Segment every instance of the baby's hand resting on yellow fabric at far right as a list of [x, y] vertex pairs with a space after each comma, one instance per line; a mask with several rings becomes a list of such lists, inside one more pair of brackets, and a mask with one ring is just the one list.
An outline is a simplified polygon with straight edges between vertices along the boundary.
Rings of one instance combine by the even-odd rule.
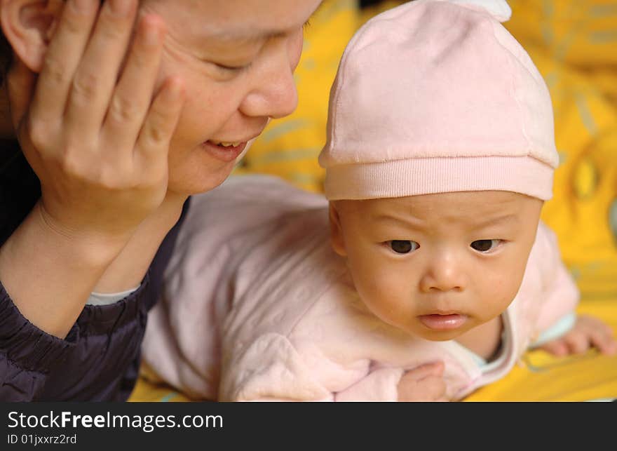
[[555, 356], [567, 356], [568, 354], [583, 354], [591, 346], [609, 356], [617, 352], [617, 341], [609, 325], [593, 316], [581, 315], [576, 318], [574, 327], [567, 334], [539, 348]]

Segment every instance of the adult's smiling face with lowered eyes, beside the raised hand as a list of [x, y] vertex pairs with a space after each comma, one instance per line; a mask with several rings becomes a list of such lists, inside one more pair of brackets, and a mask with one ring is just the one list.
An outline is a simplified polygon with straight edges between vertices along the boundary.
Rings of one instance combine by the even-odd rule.
[[[186, 102], [172, 138], [169, 189], [194, 194], [231, 173], [243, 143], [269, 117], [297, 105], [293, 72], [303, 26], [320, 0], [144, 0], [167, 26], [160, 86], [184, 81]], [[225, 147], [217, 145], [240, 143]]]

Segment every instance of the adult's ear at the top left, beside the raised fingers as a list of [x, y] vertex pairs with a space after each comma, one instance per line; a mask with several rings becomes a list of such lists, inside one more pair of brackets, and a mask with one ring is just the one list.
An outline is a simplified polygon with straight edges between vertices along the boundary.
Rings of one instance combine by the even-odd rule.
[[0, 0], [2, 32], [32, 72], [41, 72], [64, 4], [63, 0]]

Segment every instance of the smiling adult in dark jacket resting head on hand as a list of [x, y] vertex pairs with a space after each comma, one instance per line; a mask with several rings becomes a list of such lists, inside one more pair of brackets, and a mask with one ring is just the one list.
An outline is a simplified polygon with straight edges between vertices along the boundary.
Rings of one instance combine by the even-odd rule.
[[128, 398], [182, 210], [293, 111], [319, 4], [0, 0], [0, 400]]

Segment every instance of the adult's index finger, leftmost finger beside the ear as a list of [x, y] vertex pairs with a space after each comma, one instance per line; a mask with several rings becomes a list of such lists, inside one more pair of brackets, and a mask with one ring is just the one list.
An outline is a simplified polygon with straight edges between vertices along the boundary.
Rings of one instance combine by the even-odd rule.
[[98, 0], [68, 0], [45, 53], [32, 100], [32, 117], [43, 123], [62, 118], [73, 76], [96, 20]]

